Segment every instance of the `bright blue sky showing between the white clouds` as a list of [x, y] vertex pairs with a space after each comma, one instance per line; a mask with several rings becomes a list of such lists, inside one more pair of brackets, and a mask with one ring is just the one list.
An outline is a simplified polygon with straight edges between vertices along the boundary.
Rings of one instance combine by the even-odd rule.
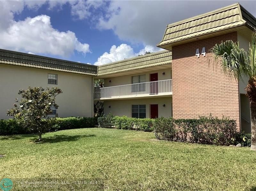
[[[76, 37], [82, 43], [90, 45], [91, 53], [84, 55], [81, 52], [75, 51], [69, 57], [62, 57], [58, 55], [41, 54], [44, 56], [53, 56], [57, 58], [64, 58], [72, 61], [80, 61], [84, 63], [94, 63], [105, 51], [109, 51], [114, 44], [120, 45], [122, 43], [129, 44], [127, 41], [120, 40], [112, 30], [101, 31], [90, 23], [87, 19], [76, 19], [71, 15], [71, 7], [69, 4], [64, 4], [62, 7], [55, 7], [52, 10], [48, 9], [48, 4], [44, 4], [38, 10], [33, 11], [27, 7], [24, 8], [21, 14], [15, 14], [16, 21], [24, 20], [27, 17], [36, 17], [38, 15], [48, 15], [51, 17], [51, 24], [53, 28], [59, 31], [71, 30], [76, 33]], [[139, 51], [143, 45], [133, 46], [135, 51]], [[33, 50], [31, 50], [33, 52]]]

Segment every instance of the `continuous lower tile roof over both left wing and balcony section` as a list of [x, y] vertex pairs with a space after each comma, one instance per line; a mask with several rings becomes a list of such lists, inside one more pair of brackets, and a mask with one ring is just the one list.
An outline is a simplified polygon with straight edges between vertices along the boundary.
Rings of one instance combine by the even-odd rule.
[[169, 50], [133, 57], [110, 64], [95, 66], [0, 49], [0, 64], [26, 66], [93, 76], [108, 75], [112, 73], [125, 72], [170, 63], [172, 63], [172, 52]]

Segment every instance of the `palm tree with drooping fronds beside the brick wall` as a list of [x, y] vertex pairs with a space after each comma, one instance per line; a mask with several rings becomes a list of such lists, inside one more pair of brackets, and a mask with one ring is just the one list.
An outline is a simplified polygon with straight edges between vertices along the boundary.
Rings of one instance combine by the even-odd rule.
[[252, 44], [248, 52], [240, 49], [239, 43], [231, 40], [216, 44], [210, 52], [225, 73], [233, 75], [238, 81], [244, 77], [249, 78], [245, 91], [251, 108], [251, 149], [256, 150], [256, 31], [252, 34]]

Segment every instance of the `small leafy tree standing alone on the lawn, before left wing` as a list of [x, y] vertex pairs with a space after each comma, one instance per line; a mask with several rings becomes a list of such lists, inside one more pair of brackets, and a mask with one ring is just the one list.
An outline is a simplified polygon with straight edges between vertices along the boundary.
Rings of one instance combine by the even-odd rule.
[[[61, 94], [60, 88], [42, 88], [28, 87], [27, 90], [20, 89], [21, 100], [15, 99], [14, 108], [7, 111], [6, 115], [13, 116], [17, 123], [32, 132], [39, 135], [39, 141], [42, 140], [42, 134], [47, 132], [54, 124], [55, 118], [49, 118], [51, 107], [59, 107], [55, 103], [55, 97]], [[57, 117], [57, 115], [55, 116]]]

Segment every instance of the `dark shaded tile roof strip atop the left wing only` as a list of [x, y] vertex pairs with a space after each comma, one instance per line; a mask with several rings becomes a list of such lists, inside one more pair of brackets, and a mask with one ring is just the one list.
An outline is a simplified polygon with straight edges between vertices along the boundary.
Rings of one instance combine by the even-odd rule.
[[97, 75], [97, 66], [0, 49], [0, 64]]

